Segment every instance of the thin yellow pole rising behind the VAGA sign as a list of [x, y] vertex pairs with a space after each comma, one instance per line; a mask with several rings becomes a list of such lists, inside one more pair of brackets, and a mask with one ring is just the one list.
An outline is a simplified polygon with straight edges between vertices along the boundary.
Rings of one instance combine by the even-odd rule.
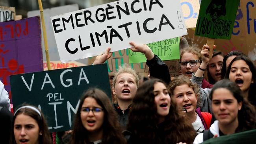
[[45, 30], [45, 18], [44, 18], [43, 6], [42, 6], [42, 1], [41, 0], [38, 0], [38, 5], [39, 5], [39, 9], [40, 9], [41, 22], [42, 22], [42, 27], [43, 27], [47, 68], [48, 68], [48, 70], [51, 70], [50, 57], [49, 57], [49, 52], [48, 52], [47, 34], [46, 34], [46, 30]]

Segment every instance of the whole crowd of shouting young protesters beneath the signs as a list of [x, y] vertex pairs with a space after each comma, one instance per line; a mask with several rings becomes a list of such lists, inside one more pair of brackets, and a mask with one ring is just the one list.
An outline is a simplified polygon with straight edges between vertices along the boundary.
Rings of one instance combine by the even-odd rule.
[[[150, 77], [139, 76], [128, 64], [120, 66], [111, 83], [112, 104], [100, 89], [86, 90], [71, 131], [61, 144], [198, 144], [205, 140], [256, 128], [256, 67], [247, 55], [189, 47], [181, 38], [181, 75], [170, 78], [169, 68], [147, 45], [130, 42], [147, 58]], [[215, 48], [216, 46], [213, 46]], [[111, 57], [110, 48], [93, 63]], [[52, 144], [43, 113], [23, 104], [10, 112], [8, 93], [0, 83], [2, 142]], [[10, 128], [11, 127], [11, 128]], [[1, 142], [1, 143], [2, 143]]]

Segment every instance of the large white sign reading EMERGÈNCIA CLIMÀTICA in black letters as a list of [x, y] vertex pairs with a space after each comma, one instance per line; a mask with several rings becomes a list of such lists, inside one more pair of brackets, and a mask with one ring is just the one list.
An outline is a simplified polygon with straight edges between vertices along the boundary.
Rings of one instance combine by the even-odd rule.
[[187, 34], [179, 0], [120, 0], [51, 21], [62, 63]]

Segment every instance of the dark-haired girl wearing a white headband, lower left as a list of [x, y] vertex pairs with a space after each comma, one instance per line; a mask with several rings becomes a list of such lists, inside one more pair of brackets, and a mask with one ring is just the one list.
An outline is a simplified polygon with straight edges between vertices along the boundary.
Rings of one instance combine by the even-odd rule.
[[10, 144], [52, 144], [43, 113], [32, 105], [22, 105], [13, 116]]

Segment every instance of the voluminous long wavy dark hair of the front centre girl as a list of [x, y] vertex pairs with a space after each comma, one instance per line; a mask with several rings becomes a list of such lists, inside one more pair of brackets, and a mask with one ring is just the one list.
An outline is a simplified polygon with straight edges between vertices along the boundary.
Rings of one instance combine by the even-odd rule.
[[[184, 117], [178, 110], [173, 100], [171, 100], [169, 114], [165, 116], [164, 122], [158, 124], [159, 119], [153, 93], [154, 84], [157, 82], [165, 84], [160, 79], [149, 79], [142, 83], [137, 90], [127, 127], [134, 139], [131, 141], [145, 144], [159, 144], [161, 142], [164, 144], [193, 143], [196, 136], [195, 130], [187, 117]], [[159, 129], [160, 125], [162, 129]]]

